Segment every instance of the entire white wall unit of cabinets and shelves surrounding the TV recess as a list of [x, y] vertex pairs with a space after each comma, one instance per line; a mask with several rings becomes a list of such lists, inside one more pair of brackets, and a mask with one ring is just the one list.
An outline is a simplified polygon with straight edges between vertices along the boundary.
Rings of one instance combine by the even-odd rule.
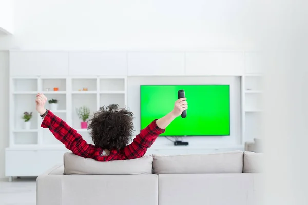
[[[81, 129], [76, 108], [87, 106], [93, 113], [109, 104], [129, 106], [127, 77], [239, 77], [241, 116], [234, 121], [241, 123], [242, 132], [240, 136], [234, 136], [236, 145], [224, 144], [226, 138], [218, 138], [215, 148], [207, 145], [189, 147], [189, 151], [187, 149], [185, 152], [243, 148], [245, 142], [260, 137], [263, 91], [261, 59], [257, 52], [246, 51], [10, 51], [10, 128], [5, 156], [6, 176], [38, 176], [55, 164], [62, 163], [63, 154], [68, 151], [48, 129], [40, 127], [42, 119], [35, 111], [34, 101], [38, 92], [43, 92], [48, 99], [57, 99], [59, 108], [51, 111], [91, 142], [88, 131]], [[54, 87], [59, 90], [55, 91]], [[48, 104], [46, 108], [50, 109]], [[22, 120], [25, 111], [33, 112], [29, 130], [24, 129]], [[170, 150], [174, 149], [177, 153], [184, 153], [185, 148], [166, 146], [151, 150], [153, 153], [167, 150], [170, 154], [173, 153]]]

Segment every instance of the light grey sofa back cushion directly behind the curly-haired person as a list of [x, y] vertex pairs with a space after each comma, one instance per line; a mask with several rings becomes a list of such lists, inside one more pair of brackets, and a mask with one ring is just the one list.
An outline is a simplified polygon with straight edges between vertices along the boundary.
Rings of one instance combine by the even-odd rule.
[[153, 157], [146, 155], [137, 159], [96, 161], [77, 156], [71, 152], [64, 154], [65, 174], [151, 174]]

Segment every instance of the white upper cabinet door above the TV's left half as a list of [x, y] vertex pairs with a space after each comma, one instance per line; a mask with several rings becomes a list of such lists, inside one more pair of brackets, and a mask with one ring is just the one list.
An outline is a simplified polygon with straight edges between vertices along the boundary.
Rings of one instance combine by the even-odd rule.
[[184, 75], [184, 52], [128, 53], [128, 76]]

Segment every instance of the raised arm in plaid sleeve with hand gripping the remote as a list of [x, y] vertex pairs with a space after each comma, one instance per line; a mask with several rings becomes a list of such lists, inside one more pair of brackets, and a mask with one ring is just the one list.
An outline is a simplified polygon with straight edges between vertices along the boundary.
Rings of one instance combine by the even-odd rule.
[[155, 142], [157, 137], [165, 132], [170, 123], [187, 109], [186, 98], [178, 99], [174, 109], [160, 119], [155, 119], [134, 138], [133, 142], [123, 149], [127, 159], [139, 158], [145, 155], [147, 149]]

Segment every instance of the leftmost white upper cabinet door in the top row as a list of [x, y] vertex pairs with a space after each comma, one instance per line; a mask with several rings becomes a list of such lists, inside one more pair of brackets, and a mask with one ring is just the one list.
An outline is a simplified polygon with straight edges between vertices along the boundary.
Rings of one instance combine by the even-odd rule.
[[11, 76], [66, 76], [68, 52], [10, 52]]

